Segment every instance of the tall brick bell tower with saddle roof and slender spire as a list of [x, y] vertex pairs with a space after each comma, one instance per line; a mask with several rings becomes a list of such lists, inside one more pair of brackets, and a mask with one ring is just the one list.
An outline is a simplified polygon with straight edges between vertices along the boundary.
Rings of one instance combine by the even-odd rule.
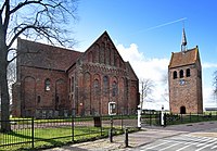
[[199, 47], [187, 49], [184, 29], [180, 52], [173, 52], [168, 66], [171, 113], [203, 113], [202, 67]]

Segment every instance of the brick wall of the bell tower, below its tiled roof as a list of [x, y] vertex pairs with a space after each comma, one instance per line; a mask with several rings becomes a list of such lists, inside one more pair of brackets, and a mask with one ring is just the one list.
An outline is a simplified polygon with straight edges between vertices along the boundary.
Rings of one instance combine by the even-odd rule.
[[[187, 68], [190, 68], [190, 77], [186, 76]], [[179, 77], [180, 70], [183, 71], [183, 78]], [[174, 79], [174, 72], [177, 71], [177, 78]], [[180, 66], [169, 70], [169, 104], [173, 113], [180, 113], [180, 108], [186, 106], [187, 113], [202, 113], [202, 77], [199, 77], [200, 64]], [[184, 84], [181, 85], [180, 80]]]

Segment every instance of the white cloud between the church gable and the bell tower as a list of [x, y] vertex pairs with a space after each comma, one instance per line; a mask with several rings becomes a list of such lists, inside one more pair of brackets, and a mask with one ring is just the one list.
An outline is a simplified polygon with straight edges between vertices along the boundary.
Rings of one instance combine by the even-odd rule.
[[165, 101], [163, 95], [168, 90], [168, 86], [165, 85], [163, 78], [168, 72], [168, 59], [149, 59], [142, 52], [139, 52], [138, 46], [131, 43], [129, 47], [123, 45], [116, 45], [118, 52], [125, 61], [129, 61], [138, 78], [151, 79], [154, 81], [154, 88], [152, 92], [151, 101], [146, 100], [145, 109], [161, 110], [162, 104], [167, 106], [168, 102]]

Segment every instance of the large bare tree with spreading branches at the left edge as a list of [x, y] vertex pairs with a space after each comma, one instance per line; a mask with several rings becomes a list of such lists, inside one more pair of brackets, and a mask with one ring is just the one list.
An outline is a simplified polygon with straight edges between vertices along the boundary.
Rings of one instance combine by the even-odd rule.
[[[16, 56], [8, 60], [14, 51], [14, 42], [21, 35], [50, 43], [68, 45], [68, 21], [76, 18], [76, 0], [3, 0], [0, 2], [0, 89], [1, 131], [11, 129], [9, 121], [10, 97], [7, 68]], [[18, 51], [18, 50], [16, 50]], [[17, 53], [16, 53], [17, 54]]]

